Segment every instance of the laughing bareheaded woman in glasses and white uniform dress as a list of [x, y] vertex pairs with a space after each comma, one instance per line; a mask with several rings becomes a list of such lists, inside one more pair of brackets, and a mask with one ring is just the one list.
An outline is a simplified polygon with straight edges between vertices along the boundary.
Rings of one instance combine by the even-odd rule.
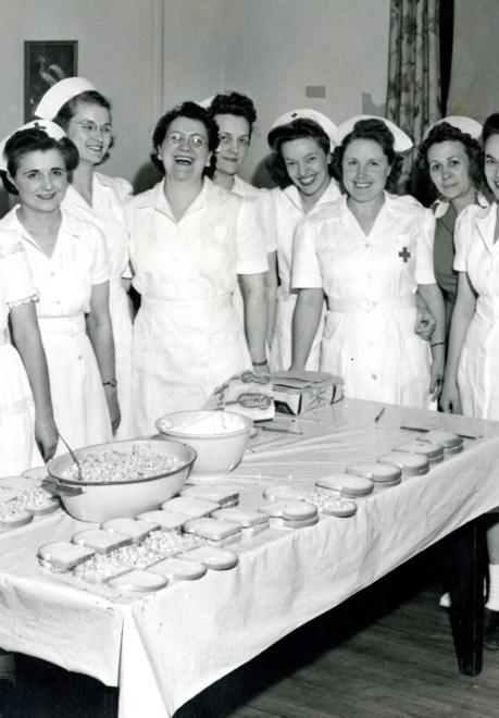
[[[141, 301], [133, 344], [140, 433], [167, 412], [201, 409], [235, 372], [267, 369], [265, 245], [247, 200], [205, 176], [219, 145], [215, 123], [184, 102], [160, 117], [152, 143], [165, 178], [129, 206]], [[232, 300], [238, 276], [246, 337]]]

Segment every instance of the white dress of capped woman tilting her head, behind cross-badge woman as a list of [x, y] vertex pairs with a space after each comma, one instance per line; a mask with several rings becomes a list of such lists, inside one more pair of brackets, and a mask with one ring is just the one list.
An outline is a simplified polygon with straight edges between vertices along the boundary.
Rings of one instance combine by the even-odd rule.
[[[338, 199], [340, 191], [336, 181], [332, 180], [325, 193], [308, 213], [303, 209], [300, 193], [295, 185], [290, 185], [286, 189], [271, 189], [269, 196], [269, 201], [265, 205], [264, 223], [269, 231], [274, 234], [274, 239], [270, 242], [277, 248], [277, 270], [279, 274], [270, 367], [272, 371], [282, 371], [283, 369], [289, 369], [291, 363], [291, 324], [297, 301], [297, 295], [291, 290], [295, 230], [298, 222], [304, 216], [313, 216], [321, 207]], [[319, 367], [321, 338], [322, 322], [309, 355], [307, 369], [314, 370]]]

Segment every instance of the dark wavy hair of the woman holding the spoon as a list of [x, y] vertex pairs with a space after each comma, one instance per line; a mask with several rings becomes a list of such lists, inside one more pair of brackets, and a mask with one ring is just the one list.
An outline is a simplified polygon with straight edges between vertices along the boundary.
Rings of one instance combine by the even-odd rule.
[[[29, 152], [47, 152], [52, 149], [61, 152], [66, 172], [72, 172], [78, 166], [78, 150], [67, 137], [54, 139], [43, 129], [38, 129], [37, 127], [18, 129], [8, 139], [5, 149], [3, 150], [9, 174], [11, 177], [15, 177], [22, 158], [29, 154]], [[18, 195], [16, 187], [7, 176], [7, 172], [2, 171], [1, 176], [7, 191], [11, 195]]]

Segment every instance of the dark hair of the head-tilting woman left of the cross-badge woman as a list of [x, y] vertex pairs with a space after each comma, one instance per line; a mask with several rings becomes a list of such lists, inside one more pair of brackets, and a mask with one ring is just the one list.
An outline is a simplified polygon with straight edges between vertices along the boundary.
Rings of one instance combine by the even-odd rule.
[[[327, 156], [330, 152], [330, 140], [327, 133], [314, 120], [297, 117], [287, 125], [274, 127], [267, 135], [267, 143], [272, 149], [269, 161], [269, 172], [273, 181], [284, 189], [292, 185], [283, 159], [283, 145], [294, 139], [313, 139], [317, 147]], [[329, 175], [332, 168], [329, 164]]]

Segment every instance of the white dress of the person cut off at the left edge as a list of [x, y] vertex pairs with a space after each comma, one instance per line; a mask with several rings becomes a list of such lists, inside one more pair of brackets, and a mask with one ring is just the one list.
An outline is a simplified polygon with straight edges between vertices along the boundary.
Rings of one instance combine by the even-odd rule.
[[0, 231], [0, 476], [42, 463], [35, 445], [35, 407], [24, 364], [9, 339], [11, 307], [36, 301], [18, 237]]

